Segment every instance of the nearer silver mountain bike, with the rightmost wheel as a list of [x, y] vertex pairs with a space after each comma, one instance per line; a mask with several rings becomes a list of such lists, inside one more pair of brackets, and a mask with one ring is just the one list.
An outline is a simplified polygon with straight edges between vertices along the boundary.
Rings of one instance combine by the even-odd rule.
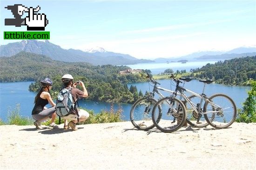
[[[182, 98], [185, 100], [184, 104], [186, 106], [186, 115], [189, 125], [195, 127], [206, 127], [208, 125], [211, 125], [215, 128], [221, 129], [229, 127], [235, 121], [236, 104], [229, 96], [227, 96], [226, 94], [213, 94], [208, 98], [206, 94], [204, 94], [205, 85], [212, 83], [213, 80], [199, 80], [199, 82], [204, 83], [204, 86], [202, 94], [196, 94], [195, 92], [190, 91], [189, 89], [181, 87], [179, 84], [182, 83], [182, 81], [175, 79], [174, 75], [172, 75], [170, 78], [173, 78], [174, 81], [176, 82], [175, 92], [171, 96], [157, 101], [152, 110], [153, 123], [162, 132], [165, 131], [165, 127], [164, 125], [160, 124], [161, 120], [159, 119], [162, 119], [162, 117], [159, 116], [159, 111], [157, 112], [156, 109], [157, 107], [159, 107], [159, 105], [162, 108], [166, 107], [164, 105], [164, 101], [175, 100], [175, 97], [177, 96], [178, 92], [179, 95], [181, 95]], [[186, 94], [184, 94], [184, 92], [188, 92], [192, 95], [187, 97]], [[202, 107], [203, 101], [205, 102]], [[230, 113], [229, 117], [226, 116], [228, 113]], [[204, 119], [202, 118], [202, 115]], [[231, 119], [227, 120], [228, 118]], [[222, 122], [220, 122], [221, 120]]]

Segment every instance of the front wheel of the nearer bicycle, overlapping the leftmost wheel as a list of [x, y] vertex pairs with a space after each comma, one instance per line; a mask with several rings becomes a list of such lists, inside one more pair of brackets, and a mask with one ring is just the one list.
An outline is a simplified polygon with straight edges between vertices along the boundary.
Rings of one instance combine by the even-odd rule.
[[[159, 107], [161, 106], [161, 107]], [[161, 110], [159, 110], [161, 108]], [[186, 109], [182, 101], [165, 97], [157, 101], [152, 111], [154, 125], [162, 132], [175, 132], [186, 121]]]

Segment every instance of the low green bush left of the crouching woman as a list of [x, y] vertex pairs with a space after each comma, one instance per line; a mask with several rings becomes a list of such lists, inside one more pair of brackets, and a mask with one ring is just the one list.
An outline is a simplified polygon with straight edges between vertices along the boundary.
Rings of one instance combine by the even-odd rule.
[[20, 116], [20, 104], [16, 104], [13, 110], [8, 110], [7, 113], [8, 125], [33, 125], [34, 120]]

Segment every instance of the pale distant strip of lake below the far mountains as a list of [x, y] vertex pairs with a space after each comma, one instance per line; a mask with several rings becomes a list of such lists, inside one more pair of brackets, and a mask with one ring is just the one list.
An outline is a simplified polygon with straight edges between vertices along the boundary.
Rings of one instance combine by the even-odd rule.
[[[222, 59], [225, 60], [225, 59]], [[174, 72], [176, 70], [182, 70], [186, 69], [187, 72], [190, 71], [190, 69], [195, 69], [195, 68], [201, 68], [202, 66], [206, 65], [207, 63], [214, 64], [217, 61], [220, 60], [210, 60], [210, 61], [205, 61], [205, 60], [199, 60], [199, 61], [189, 61], [187, 63], [138, 63], [138, 64], [129, 64], [126, 65], [130, 67], [131, 69], [150, 69], [152, 74], [159, 74], [163, 73], [164, 70], [166, 69], [173, 69]]]

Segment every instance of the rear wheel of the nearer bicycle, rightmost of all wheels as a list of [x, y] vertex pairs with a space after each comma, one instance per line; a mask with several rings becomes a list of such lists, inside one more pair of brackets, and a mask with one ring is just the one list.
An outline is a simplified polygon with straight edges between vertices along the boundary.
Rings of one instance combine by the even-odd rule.
[[226, 94], [214, 94], [203, 106], [205, 120], [217, 128], [227, 128], [236, 120], [236, 104]]

